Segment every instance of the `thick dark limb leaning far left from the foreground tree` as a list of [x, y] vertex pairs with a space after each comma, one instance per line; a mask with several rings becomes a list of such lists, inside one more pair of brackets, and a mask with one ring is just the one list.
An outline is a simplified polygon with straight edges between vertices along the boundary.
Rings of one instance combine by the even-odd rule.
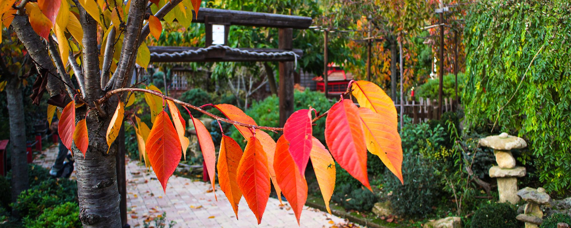
[[[18, 39], [21, 40], [24, 47], [26, 47], [30, 57], [38, 63], [36, 66], [38, 71], [41, 68], [45, 68], [52, 74], [57, 74], [57, 70], [51, 62], [50, 55], [47, 53], [45, 44], [31, 27], [27, 15], [15, 15], [11, 25], [14, 27], [14, 31], [18, 35]], [[50, 96], [59, 95], [65, 90], [63, 83], [53, 77], [49, 77], [47, 79], [46, 88], [50, 93]]]

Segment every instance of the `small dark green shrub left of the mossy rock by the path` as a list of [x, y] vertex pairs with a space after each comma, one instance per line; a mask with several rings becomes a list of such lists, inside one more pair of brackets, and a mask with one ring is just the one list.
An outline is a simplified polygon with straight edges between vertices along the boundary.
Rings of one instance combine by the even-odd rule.
[[[357, 181], [357, 185], [343, 184], [333, 192], [332, 200], [339, 203], [346, 210], [371, 211], [379, 199], [369, 189], [365, 189]], [[355, 188], [360, 186], [361, 188]]]

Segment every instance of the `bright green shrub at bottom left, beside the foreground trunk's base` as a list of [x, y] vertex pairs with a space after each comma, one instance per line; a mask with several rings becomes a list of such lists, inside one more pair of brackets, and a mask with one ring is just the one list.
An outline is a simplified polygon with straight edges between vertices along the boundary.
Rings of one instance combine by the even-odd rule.
[[79, 221], [79, 206], [76, 202], [66, 202], [52, 208], [46, 208], [37, 219], [24, 218], [25, 227], [29, 228], [71, 228], [82, 227]]

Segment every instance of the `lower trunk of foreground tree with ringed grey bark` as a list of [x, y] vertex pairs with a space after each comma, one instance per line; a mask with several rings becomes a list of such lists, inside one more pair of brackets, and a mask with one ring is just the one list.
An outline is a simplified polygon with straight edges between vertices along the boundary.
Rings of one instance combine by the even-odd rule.
[[[113, 107], [116, 99], [110, 101], [108, 107]], [[85, 116], [85, 105], [77, 109], [77, 121]], [[112, 110], [107, 110], [107, 113]], [[119, 211], [120, 196], [117, 188], [115, 169], [116, 143], [111, 145], [107, 153], [105, 134], [111, 115], [105, 119], [95, 112], [87, 116], [89, 131], [89, 148], [85, 158], [73, 146], [75, 169], [77, 170], [77, 187], [79, 199], [79, 220], [83, 227], [121, 227]]]

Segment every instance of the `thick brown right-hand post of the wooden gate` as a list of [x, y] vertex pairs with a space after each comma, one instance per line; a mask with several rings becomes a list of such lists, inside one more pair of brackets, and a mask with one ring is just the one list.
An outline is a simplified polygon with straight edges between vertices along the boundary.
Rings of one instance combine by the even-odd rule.
[[[293, 28], [279, 28], [278, 46], [286, 50], [293, 47]], [[280, 127], [286, 124], [289, 115], [293, 113], [293, 62], [279, 62], [280, 74]], [[327, 83], [325, 83], [327, 94]]]

